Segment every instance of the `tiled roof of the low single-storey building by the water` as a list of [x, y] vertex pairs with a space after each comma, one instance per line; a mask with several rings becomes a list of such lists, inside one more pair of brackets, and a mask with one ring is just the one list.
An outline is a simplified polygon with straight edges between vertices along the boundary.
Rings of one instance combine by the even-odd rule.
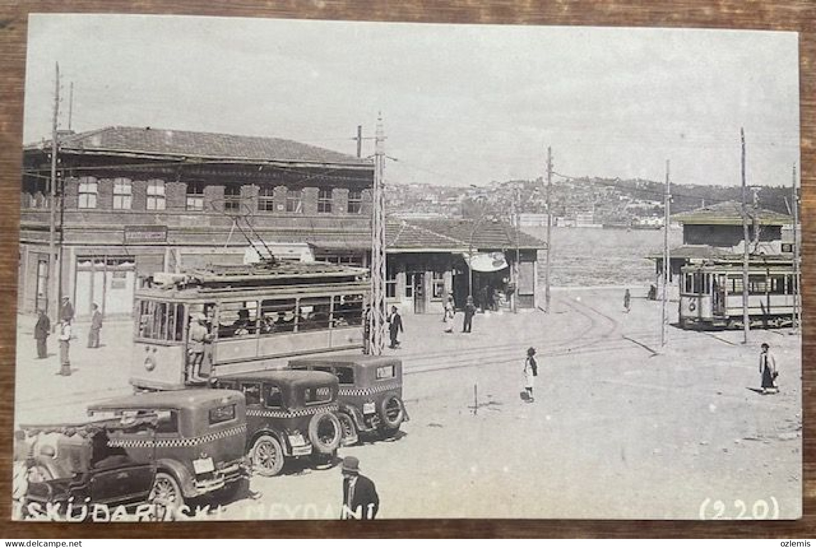
[[547, 244], [508, 223], [472, 220], [390, 220], [388, 250], [543, 250]]

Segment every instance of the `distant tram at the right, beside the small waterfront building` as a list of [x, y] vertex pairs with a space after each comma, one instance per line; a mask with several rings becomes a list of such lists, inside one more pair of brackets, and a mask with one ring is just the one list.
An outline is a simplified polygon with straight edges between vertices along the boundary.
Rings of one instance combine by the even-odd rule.
[[[792, 324], [797, 283], [792, 259], [756, 258], [748, 263], [751, 326]], [[715, 259], [681, 268], [680, 324], [684, 328], [743, 327], [743, 263]]]

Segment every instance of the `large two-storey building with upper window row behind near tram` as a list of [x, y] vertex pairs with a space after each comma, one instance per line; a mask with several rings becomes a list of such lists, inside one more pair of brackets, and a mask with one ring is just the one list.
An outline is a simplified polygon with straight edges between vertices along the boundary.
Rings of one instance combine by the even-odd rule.
[[50, 152], [48, 143], [24, 148], [21, 312], [47, 306], [55, 276], [78, 317], [91, 303], [129, 315], [153, 272], [240, 263], [248, 239], [365, 263], [371, 161], [288, 139], [107, 127], [60, 136], [61, 254], [50, 268]]

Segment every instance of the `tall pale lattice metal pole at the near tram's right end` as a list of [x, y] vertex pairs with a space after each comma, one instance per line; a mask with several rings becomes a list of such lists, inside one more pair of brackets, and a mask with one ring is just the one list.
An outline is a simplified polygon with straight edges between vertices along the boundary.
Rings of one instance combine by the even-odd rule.
[[[357, 126], [357, 135], [361, 138], [362, 126]], [[375, 137], [374, 163], [374, 207], [371, 219], [371, 310], [369, 314], [369, 348], [370, 353], [379, 356], [383, 353], [386, 310], [385, 310], [385, 199], [383, 191], [383, 172], [385, 163], [384, 130], [382, 114], [377, 118]], [[357, 147], [361, 139], [357, 140]]]

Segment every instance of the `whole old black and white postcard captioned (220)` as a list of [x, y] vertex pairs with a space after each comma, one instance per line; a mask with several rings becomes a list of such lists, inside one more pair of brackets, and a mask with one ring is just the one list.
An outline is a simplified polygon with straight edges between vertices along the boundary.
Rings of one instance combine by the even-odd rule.
[[29, 15], [12, 519], [799, 519], [799, 46]]

